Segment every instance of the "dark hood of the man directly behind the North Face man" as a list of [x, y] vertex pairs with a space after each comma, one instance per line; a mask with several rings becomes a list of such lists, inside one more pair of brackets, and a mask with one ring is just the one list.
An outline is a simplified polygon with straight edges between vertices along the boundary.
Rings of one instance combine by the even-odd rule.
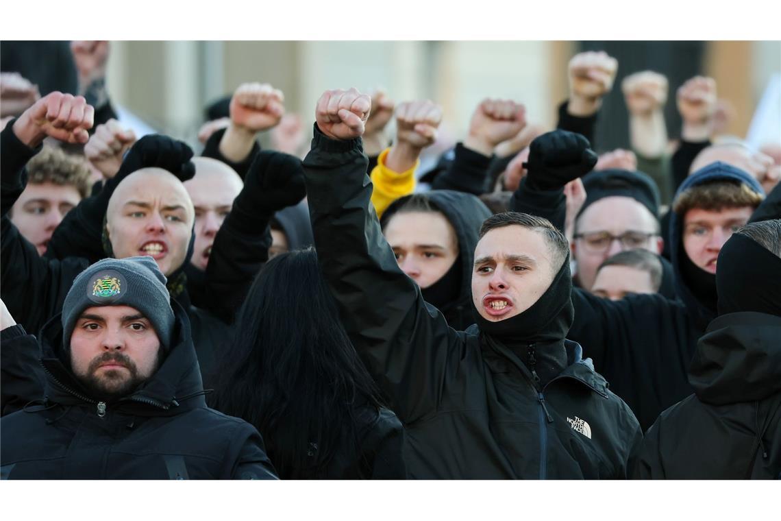
[[[440, 306], [440, 311], [455, 329], [465, 329], [474, 323], [472, 305], [472, 266], [475, 247], [479, 241], [480, 227], [483, 221], [491, 216], [488, 207], [473, 194], [452, 190], [433, 190], [424, 192], [435, 206], [451, 223], [458, 237], [458, 260], [460, 266], [460, 290], [458, 297], [447, 305]], [[387, 207], [381, 219], [383, 228], [411, 196], [398, 198]], [[460, 262], [460, 264], [459, 264]]]

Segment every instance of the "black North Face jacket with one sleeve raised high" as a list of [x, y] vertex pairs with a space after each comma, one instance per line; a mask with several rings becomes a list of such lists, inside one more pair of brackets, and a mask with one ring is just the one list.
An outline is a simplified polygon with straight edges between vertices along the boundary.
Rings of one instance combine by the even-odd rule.
[[342, 323], [405, 424], [409, 475], [626, 477], [640, 428], [580, 346], [567, 342], [569, 366], [540, 391], [477, 327], [448, 327], [383, 238], [366, 161], [360, 139], [316, 130], [304, 160], [309, 213]]

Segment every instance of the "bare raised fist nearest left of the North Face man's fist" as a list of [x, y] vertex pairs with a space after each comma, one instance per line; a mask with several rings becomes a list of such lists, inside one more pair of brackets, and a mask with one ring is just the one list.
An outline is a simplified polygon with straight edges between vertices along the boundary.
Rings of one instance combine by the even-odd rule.
[[284, 95], [269, 84], [241, 84], [230, 98], [230, 120], [248, 132], [268, 130], [285, 113]]

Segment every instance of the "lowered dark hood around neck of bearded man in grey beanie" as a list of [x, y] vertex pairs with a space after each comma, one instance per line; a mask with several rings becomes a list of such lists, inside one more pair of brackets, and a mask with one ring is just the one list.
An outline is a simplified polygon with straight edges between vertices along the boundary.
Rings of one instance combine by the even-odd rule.
[[[173, 347], [152, 377], [119, 398], [114, 408], [138, 416], [170, 416], [204, 406], [201, 369], [190, 335], [190, 320], [184, 309], [172, 301], [175, 327]], [[95, 403], [70, 369], [62, 348], [62, 323], [59, 314], [41, 329], [41, 365], [46, 373], [45, 395], [61, 405]], [[86, 398], [86, 399], [85, 399]]]

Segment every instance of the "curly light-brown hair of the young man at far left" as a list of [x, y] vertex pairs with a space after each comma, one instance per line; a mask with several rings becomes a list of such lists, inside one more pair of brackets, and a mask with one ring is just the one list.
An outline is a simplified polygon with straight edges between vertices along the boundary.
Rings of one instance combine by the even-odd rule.
[[90, 194], [90, 168], [87, 159], [68, 154], [62, 149], [44, 145], [43, 150], [27, 162], [27, 176], [30, 184], [52, 183], [72, 186], [81, 198]]

